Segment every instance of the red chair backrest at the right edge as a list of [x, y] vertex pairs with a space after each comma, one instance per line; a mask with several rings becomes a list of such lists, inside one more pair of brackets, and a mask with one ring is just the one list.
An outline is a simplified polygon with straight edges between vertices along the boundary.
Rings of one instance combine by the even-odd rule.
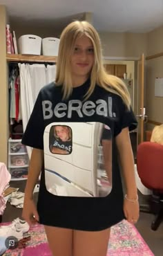
[[146, 188], [163, 190], [163, 145], [151, 142], [138, 145], [137, 172]]

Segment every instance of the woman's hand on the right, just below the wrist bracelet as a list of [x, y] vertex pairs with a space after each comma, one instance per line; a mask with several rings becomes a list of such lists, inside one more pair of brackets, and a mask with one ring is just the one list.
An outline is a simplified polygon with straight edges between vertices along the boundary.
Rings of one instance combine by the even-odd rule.
[[124, 199], [124, 215], [128, 222], [137, 223], [140, 217], [140, 205], [139, 201], [128, 201], [126, 198]]

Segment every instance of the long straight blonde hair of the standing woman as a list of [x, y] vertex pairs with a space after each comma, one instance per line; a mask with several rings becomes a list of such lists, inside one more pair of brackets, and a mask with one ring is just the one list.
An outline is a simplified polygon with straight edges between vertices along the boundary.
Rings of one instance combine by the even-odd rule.
[[70, 71], [70, 57], [73, 54], [75, 41], [78, 37], [86, 35], [92, 42], [95, 61], [90, 72], [90, 87], [86, 93], [86, 99], [93, 93], [95, 84], [107, 91], [119, 95], [126, 106], [130, 107], [131, 98], [126, 84], [115, 75], [108, 75], [102, 62], [102, 47], [97, 30], [87, 21], [73, 21], [61, 33], [59, 54], [57, 57], [57, 71], [55, 83], [63, 84], [63, 98], [68, 98], [73, 90], [73, 82]]

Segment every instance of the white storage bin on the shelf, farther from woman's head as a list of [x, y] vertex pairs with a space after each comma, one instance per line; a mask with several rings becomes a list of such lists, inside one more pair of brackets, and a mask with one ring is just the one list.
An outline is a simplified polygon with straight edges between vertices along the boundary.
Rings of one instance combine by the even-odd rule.
[[21, 35], [18, 39], [19, 53], [41, 55], [41, 40], [37, 35]]

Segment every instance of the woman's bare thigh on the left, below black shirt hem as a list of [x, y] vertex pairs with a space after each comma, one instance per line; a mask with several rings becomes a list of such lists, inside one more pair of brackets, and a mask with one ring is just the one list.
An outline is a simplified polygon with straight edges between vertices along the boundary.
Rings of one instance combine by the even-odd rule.
[[73, 230], [44, 226], [48, 244], [53, 256], [72, 256]]

